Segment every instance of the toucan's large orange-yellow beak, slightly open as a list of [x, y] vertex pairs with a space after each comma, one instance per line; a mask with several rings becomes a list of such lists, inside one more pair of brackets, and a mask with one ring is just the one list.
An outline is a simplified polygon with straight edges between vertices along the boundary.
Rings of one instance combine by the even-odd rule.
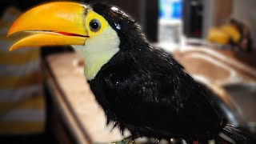
[[10, 27], [7, 36], [20, 32], [25, 36], [10, 50], [26, 46], [84, 45], [88, 38], [85, 19], [86, 7], [75, 2], [51, 2], [34, 7]]

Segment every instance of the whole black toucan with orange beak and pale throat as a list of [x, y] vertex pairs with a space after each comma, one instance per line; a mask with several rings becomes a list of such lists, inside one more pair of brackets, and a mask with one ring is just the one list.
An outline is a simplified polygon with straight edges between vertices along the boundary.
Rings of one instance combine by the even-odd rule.
[[86, 80], [107, 122], [121, 132], [130, 130], [132, 139], [206, 143], [222, 134], [231, 143], [254, 140], [227, 125], [214, 107], [212, 92], [170, 54], [150, 45], [138, 23], [115, 6], [46, 3], [22, 14], [7, 35], [16, 33], [26, 35], [10, 50], [73, 46], [84, 60]]

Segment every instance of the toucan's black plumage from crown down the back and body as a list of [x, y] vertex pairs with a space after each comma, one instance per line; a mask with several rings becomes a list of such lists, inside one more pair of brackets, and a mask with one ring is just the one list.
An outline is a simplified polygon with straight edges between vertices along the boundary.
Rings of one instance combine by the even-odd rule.
[[89, 81], [108, 122], [136, 136], [216, 138], [226, 119], [214, 109], [210, 90], [200, 86], [166, 52], [150, 46], [137, 23], [121, 10], [91, 5], [117, 31], [120, 50]]

